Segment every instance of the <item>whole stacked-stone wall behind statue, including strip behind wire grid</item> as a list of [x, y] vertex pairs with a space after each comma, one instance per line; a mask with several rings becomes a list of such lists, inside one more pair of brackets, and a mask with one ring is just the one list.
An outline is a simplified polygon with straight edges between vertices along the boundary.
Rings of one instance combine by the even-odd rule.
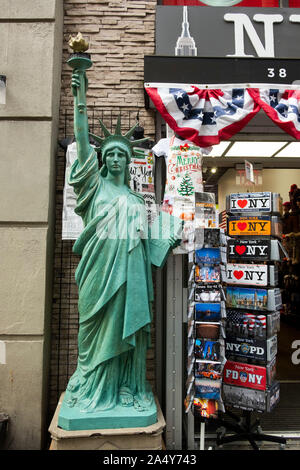
[[[144, 108], [144, 55], [154, 53], [156, 1], [64, 0], [64, 44], [60, 104], [59, 140], [73, 135], [73, 97], [69, 35], [79, 31], [90, 44], [93, 67], [88, 71], [87, 105], [90, 126], [100, 133], [97, 117], [114, 127], [122, 116], [123, 131], [135, 123], [139, 112], [145, 136], [154, 139], [154, 115]], [[99, 134], [101, 135], [101, 134]], [[77, 286], [74, 273], [79, 258], [72, 253], [72, 241], [61, 240], [62, 197], [65, 155], [58, 150], [56, 162], [56, 243], [52, 310], [49, 420], [58, 398], [65, 390], [77, 362]], [[155, 325], [155, 318], [153, 325]], [[147, 376], [155, 388], [154, 326], [153, 347], [148, 353]]]

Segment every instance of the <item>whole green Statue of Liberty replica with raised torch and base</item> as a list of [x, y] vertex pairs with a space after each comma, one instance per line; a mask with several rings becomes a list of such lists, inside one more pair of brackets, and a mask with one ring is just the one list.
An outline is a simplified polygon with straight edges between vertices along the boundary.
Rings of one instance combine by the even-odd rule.
[[[69, 44], [74, 50], [68, 64], [73, 69], [77, 143], [69, 183], [77, 196], [75, 211], [84, 229], [73, 246], [81, 256], [75, 274], [78, 362], [64, 395], [58, 426], [66, 430], [148, 426], [157, 420], [156, 403], [146, 380], [153, 301], [151, 266], [162, 264], [155, 261], [158, 258], [165, 261], [178, 238], [170, 233], [151, 246], [144, 199], [128, 183], [128, 165], [138, 143], [130, 137], [136, 126], [122, 135], [120, 119], [114, 133], [100, 121], [103, 137], [90, 134], [99, 145], [94, 148], [90, 144], [86, 69], [92, 62], [80, 34]], [[98, 151], [103, 163], [100, 170]]]

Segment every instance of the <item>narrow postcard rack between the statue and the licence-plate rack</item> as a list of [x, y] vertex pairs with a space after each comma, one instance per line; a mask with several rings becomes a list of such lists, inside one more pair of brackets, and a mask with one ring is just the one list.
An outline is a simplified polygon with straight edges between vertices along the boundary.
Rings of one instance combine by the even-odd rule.
[[[214, 195], [196, 194], [195, 231], [189, 243], [186, 328], [185, 415], [189, 448], [200, 427], [204, 449], [205, 423], [223, 410], [222, 370], [225, 361], [225, 295], [221, 285], [221, 245]], [[223, 410], [224, 411], [224, 410]]]

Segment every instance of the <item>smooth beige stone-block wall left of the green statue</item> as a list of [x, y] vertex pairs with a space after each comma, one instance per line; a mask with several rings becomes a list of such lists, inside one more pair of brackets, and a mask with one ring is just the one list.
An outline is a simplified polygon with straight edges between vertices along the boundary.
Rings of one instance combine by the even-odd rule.
[[60, 0], [0, 0], [0, 413], [5, 447], [45, 433], [54, 180], [62, 56]]

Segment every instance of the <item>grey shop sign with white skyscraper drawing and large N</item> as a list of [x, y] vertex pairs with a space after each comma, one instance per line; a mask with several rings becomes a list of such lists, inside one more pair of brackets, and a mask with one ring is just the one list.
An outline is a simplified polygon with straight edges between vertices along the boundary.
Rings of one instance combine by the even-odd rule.
[[[300, 14], [297, 8], [187, 8], [158, 6], [156, 13], [156, 55], [176, 55], [183, 37], [191, 41], [185, 55], [206, 57], [299, 57]], [[184, 24], [185, 23], [185, 24]], [[209, 40], [213, 36], [213, 40]], [[286, 75], [287, 70], [270, 67], [269, 76]]]

